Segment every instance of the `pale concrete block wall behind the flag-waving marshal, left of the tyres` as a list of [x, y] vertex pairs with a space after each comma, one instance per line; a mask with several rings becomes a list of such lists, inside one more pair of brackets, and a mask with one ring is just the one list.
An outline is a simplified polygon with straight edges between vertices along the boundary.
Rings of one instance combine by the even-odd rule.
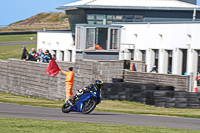
[[[59, 61], [57, 63], [65, 71], [69, 67], [74, 67], [74, 92], [99, 79], [98, 75], [104, 82], [111, 82], [113, 77], [122, 78], [123, 74], [123, 62], [120, 61], [77, 60], [76, 63]], [[54, 78], [48, 76], [45, 73], [47, 65], [18, 59], [0, 60], [0, 91], [46, 99], [64, 99], [66, 76], [61, 73]]]

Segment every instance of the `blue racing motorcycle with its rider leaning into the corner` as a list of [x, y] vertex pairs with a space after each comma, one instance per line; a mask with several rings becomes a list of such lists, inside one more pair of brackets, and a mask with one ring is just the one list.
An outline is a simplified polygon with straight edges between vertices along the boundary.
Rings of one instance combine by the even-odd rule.
[[84, 89], [77, 91], [77, 94], [67, 100], [62, 106], [63, 113], [70, 111], [82, 112], [83, 114], [91, 113], [97, 104], [101, 102], [100, 89], [103, 82], [96, 80], [94, 84], [90, 84]]

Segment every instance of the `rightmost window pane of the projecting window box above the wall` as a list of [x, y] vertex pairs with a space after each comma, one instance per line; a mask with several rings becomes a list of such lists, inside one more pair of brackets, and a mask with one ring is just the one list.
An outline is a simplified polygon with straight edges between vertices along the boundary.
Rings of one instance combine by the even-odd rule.
[[111, 29], [110, 30], [110, 49], [118, 49], [119, 46], [119, 30]]

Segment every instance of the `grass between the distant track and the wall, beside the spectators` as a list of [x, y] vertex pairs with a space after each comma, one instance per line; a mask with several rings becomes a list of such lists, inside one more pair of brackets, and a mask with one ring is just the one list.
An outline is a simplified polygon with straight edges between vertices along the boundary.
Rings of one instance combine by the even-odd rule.
[[[21, 46], [22, 45], [0, 46], [0, 59], [2, 60], [7, 60], [8, 58], [21, 59], [21, 55], [22, 55]], [[26, 46], [27, 51], [30, 51], [31, 48], [37, 47], [36, 44], [28, 44], [24, 46]]]

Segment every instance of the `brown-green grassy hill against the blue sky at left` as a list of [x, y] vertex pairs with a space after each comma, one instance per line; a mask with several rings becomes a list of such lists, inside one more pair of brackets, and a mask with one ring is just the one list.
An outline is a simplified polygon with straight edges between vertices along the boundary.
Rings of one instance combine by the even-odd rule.
[[39, 13], [35, 16], [0, 27], [0, 32], [5, 31], [35, 31], [35, 30], [70, 29], [66, 13]]

